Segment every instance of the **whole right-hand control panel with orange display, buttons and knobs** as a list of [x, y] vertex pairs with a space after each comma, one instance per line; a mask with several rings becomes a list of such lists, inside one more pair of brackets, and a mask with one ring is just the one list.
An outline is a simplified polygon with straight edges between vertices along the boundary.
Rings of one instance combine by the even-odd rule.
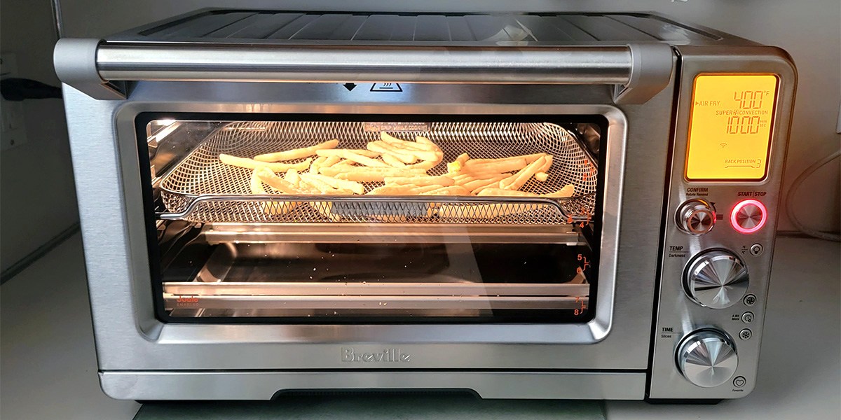
[[757, 377], [793, 75], [683, 60], [648, 398], [738, 398]]

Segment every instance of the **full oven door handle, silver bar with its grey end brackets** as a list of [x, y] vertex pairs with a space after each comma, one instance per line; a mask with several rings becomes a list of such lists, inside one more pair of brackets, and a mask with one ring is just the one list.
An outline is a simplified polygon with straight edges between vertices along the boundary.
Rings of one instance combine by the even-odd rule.
[[646, 102], [669, 84], [665, 44], [563, 47], [247, 45], [60, 39], [61, 81], [98, 99], [125, 81], [612, 85], [616, 102]]

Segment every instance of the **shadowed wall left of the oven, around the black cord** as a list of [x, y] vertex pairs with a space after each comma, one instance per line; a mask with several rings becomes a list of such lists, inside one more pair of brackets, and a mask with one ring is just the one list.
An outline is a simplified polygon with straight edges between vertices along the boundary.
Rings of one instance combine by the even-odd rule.
[[[18, 76], [59, 86], [49, 0], [4, 1], [0, 50], [14, 53]], [[78, 220], [64, 108], [59, 99], [26, 100], [27, 142], [0, 154], [2, 270]]]

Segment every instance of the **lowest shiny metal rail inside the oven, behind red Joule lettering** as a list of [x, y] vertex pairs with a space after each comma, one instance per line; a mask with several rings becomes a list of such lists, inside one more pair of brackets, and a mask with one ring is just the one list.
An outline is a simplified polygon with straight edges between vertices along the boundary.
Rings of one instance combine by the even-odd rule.
[[589, 284], [167, 282], [167, 307], [193, 309], [571, 309]]

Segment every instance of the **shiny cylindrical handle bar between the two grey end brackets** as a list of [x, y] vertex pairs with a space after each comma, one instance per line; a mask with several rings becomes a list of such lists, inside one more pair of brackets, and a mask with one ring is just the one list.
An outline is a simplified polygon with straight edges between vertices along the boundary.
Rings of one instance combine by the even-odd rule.
[[625, 84], [628, 47], [499, 50], [103, 43], [97, 70], [116, 81], [321, 81]]

